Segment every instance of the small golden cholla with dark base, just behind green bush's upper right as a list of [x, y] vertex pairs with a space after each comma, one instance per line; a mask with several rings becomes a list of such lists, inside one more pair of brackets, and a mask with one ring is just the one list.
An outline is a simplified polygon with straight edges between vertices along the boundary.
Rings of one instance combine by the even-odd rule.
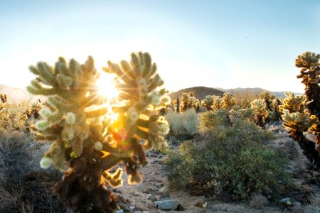
[[268, 110], [265, 101], [262, 99], [255, 99], [251, 103], [253, 114], [255, 115], [255, 124], [265, 129], [265, 119], [268, 116]]

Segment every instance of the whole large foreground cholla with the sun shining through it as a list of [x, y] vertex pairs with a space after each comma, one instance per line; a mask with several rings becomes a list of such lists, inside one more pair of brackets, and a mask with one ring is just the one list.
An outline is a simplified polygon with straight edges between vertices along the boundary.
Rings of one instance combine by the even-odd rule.
[[[132, 53], [131, 62], [108, 62], [107, 72], [117, 75], [122, 104], [113, 107], [116, 121], [103, 120], [105, 99], [97, 93], [99, 78], [91, 57], [83, 65], [59, 58], [55, 67], [38, 62], [30, 67], [37, 75], [28, 86], [32, 94], [48, 96], [41, 120], [34, 125], [39, 139], [52, 141], [41, 166], [64, 170], [55, 192], [75, 212], [113, 212], [117, 197], [110, 187], [122, 185], [122, 170], [110, 169], [124, 163], [128, 182], [141, 182], [137, 171], [146, 165], [145, 148], [166, 148], [168, 123], [156, 107], [169, 101], [163, 81], [148, 53]], [[107, 83], [107, 82], [106, 82]]]

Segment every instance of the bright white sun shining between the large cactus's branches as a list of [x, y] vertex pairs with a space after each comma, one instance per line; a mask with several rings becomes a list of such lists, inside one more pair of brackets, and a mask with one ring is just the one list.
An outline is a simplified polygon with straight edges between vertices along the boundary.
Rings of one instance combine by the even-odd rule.
[[117, 99], [119, 91], [114, 87], [114, 78], [112, 75], [107, 75], [105, 72], [100, 72], [100, 78], [96, 82], [99, 88], [98, 93], [110, 99]]

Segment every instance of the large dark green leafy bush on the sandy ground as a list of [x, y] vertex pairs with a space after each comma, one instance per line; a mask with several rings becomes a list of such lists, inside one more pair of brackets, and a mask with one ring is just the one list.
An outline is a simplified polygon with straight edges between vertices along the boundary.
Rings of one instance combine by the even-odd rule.
[[206, 118], [223, 124], [225, 112], [209, 115], [201, 116], [200, 128], [206, 129], [203, 141], [182, 143], [169, 153], [172, 185], [196, 195], [233, 200], [248, 200], [254, 192], [277, 195], [290, 186], [286, 160], [265, 145], [274, 138], [272, 133], [238, 118], [231, 120], [231, 126], [213, 125]]

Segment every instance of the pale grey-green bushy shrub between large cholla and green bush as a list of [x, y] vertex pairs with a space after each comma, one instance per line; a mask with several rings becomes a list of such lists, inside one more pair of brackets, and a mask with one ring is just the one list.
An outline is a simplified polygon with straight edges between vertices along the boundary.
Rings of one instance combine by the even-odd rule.
[[196, 133], [199, 121], [194, 109], [187, 109], [183, 113], [169, 111], [165, 118], [170, 124], [170, 133], [173, 136], [191, 136]]

